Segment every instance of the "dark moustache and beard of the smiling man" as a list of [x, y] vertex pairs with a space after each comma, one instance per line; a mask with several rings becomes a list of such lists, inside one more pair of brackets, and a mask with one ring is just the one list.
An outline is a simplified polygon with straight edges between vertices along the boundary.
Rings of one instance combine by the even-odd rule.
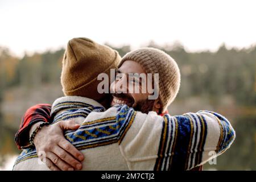
[[112, 96], [129, 101], [127, 106], [133, 107], [134, 110], [141, 111], [142, 113], [147, 114], [149, 111], [154, 109], [155, 100], [146, 99], [135, 102], [133, 97], [124, 93], [114, 93]]

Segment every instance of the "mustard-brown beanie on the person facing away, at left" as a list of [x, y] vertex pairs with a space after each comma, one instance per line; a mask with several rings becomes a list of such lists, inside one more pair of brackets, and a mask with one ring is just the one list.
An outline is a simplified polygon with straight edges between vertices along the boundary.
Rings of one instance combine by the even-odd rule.
[[[100, 73], [110, 79], [110, 69], [117, 69], [121, 56], [114, 49], [87, 38], [69, 40], [63, 57], [61, 85], [65, 96], [81, 96], [100, 100], [97, 91]], [[110, 81], [110, 80], [109, 80]]]

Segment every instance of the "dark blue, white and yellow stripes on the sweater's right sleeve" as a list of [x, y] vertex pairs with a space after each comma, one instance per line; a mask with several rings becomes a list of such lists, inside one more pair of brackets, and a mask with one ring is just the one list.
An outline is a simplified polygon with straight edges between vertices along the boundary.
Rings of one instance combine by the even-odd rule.
[[154, 170], [187, 170], [195, 167], [195, 164], [200, 164], [208, 131], [204, 114], [201, 113], [214, 115], [220, 126], [216, 154], [221, 154], [232, 144], [236, 134], [234, 130], [230, 130], [229, 121], [220, 114], [212, 111], [199, 111], [175, 117], [166, 114]]

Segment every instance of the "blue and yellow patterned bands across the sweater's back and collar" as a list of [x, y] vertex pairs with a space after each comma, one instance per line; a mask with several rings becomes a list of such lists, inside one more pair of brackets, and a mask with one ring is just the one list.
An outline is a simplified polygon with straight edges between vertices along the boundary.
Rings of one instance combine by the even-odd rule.
[[[112, 143], [121, 143], [123, 137], [134, 121], [136, 111], [127, 105], [116, 105], [118, 113], [113, 117], [84, 122], [79, 129], [65, 131], [65, 138], [79, 150], [105, 146]], [[96, 107], [82, 102], [61, 102], [53, 107], [53, 122], [65, 121], [77, 117], [86, 118], [92, 111], [104, 111], [103, 107]], [[54, 115], [60, 110], [61, 114]], [[35, 147], [22, 151], [15, 164], [30, 158], [36, 158]]]

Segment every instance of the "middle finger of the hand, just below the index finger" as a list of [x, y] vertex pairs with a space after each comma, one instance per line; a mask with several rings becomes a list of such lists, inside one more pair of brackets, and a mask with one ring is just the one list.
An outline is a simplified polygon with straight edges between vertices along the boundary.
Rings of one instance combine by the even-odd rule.
[[63, 148], [59, 146], [54, 147], [53, 152], [57, 156], [59, 156], [60, 159], [62, 159], [65, 163], [71, 165], [73, 168], [79, 170], [82, 168], [82, 164], [78, 160], [73, 158], [73, 156], [70, 155], [67, 151], [63, 150]]

